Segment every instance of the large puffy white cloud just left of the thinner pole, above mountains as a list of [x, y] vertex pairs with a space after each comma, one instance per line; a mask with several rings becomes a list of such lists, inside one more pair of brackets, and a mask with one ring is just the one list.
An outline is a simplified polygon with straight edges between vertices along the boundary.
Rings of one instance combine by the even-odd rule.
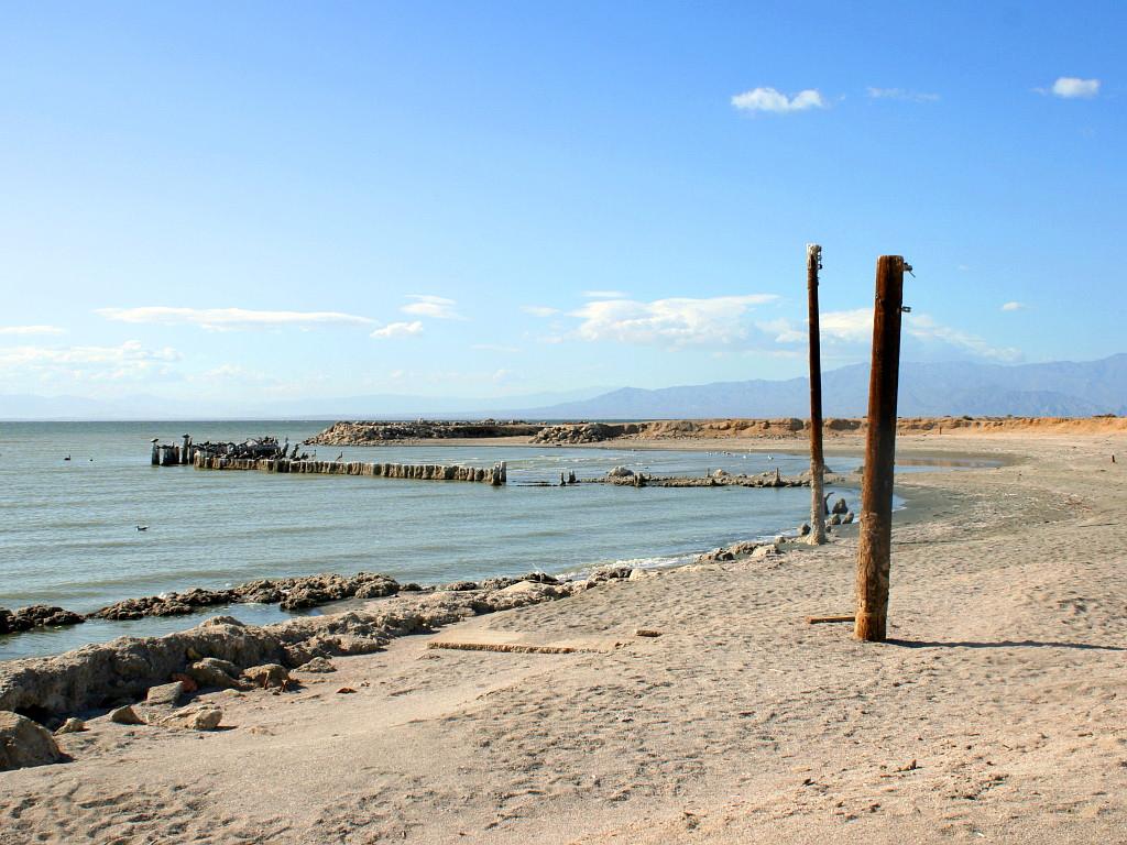
[[747, 335], [743, 320], [755, 305], [774, 302], [773, 294], [668, 299], [654, 302], [603, 300], [571, 312], [583, 322], [584, 340], [624, 344], [728, 344]]

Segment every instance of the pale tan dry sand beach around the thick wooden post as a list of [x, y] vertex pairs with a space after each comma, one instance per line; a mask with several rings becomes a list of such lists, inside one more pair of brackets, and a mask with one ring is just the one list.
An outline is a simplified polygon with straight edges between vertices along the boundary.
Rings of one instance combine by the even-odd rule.
[[1012, 462], [902, 479], [896, 641], [804, 622], [852, 610], [846, 532], [611, 584], [440, 635], [612, 650], [415, 637], [208, 696], [225, 731], [96, 720], [0, 773], [0, 843], [1127, 842], [1127, 435], [899, 447]]

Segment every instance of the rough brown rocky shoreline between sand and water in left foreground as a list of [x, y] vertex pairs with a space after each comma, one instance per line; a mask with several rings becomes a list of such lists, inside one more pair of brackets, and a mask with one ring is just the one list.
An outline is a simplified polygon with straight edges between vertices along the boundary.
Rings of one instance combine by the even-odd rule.
[[[742, 542], [699, 555], [695, 562], [774, 558], [779, 553], [778, 541]], [[166, 724], [175, 722], [177, 727], [212, 729], [219, 724], [218, 719], [214, 723], [208, 718], [199, 724], [186, 724], [179, 717], [170, 720], [167, 709], [152, 719], [144, 719], [143, 702], [151, 705], [160, 697], [154, 690], [175, 683], [185, 686], [177, 690], [171, 696], [174, 700], [196, 688], [284, 687], [290, 670], [331, 671], [331, 658], [371, 653], [396, 637], [429, 633], [472, 616], [567, 598], [607, 581], [638, 580], [650, 575], [630, 566], [611, 566], [574, 580], [531, 572], [521, 578], [489, 578], [432, 588], [400, 587], [392, 578], [371, 573], [353, 578], [285, 579], [285, 582], [302, 585], [298, 593], [304, 597], [302, 601], [321, 603], [381, 596], [387, 601], [362, 610], [296, 617], [265, 626], [247, 625], [231, 616], [214, 616], [196, 628], [163, 637], [123, 637], [55, 657], [6, 661], [0, 664], [0, 712], [10, 711], [48, 728], [61, 728], [68, 718], [89, 717], [107, 710], [114, 711], [110, 714], [114, 717], [118, 709], [133, 708], [132, 714], [116, 718], [136, 718], [137, 723], [154, 723], [153, 719], [159, 718]], [[272, 590], [282, 589], [279, 584], [242, 585], [238, 595], [272, 595]], [[294, 588], [290, 589], [293, 595]], [[222, 592], [216, 595], [219, 593]], [[184, 601], [186, 595], [170, 602], [177, 606], [176, 612], [181, 612], [179, 607], [193, 606]], [[160, 610], [158, 604], [150, 599], [131, 599], [104, 608], [113, 614], [143, 614], [156, 610]], [[275, 666], [278, 668], [269, 668]]]

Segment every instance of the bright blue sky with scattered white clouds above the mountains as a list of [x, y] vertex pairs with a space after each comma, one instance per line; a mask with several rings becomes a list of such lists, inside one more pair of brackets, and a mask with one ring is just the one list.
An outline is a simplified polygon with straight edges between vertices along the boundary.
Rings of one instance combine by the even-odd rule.
[[1124, 3], [0, 3], [0, 394], [1125, 350]]

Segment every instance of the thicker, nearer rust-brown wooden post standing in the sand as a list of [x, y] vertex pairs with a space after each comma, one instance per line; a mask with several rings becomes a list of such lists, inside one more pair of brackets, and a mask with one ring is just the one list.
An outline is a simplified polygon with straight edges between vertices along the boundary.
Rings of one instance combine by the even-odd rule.
[[857, 622], [860, 640], [881, 641], [888, 626], [888, 569], [893, 542], [893, 463], [896, 457], [896, 390], [900, 368], [904, 258], [877, 259], [869, 374], [869, 430], [861, 484], [861, 535], [857, 555]]

